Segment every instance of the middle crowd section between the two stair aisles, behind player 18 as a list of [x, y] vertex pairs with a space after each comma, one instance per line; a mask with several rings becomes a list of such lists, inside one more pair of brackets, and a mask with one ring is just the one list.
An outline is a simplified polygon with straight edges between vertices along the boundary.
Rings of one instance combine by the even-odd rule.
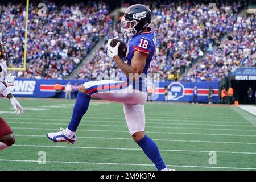
[[[189, 2], [181, 5], [175, 2], [161, 3], [155, 7], [150, 3], [147, 6], [152, 9], [152, 27], [157, 38], [152, 72], [158, 73], [160, 80], [177, 80], [179, 74], [184, 73], [205, 52], [212, 51], [214, 46], [220, 44], [224, 34], [233, 31], [233, 23], [243, 4], [238, 1], [221, 5], [216, 12], [210, 11], [208, 5]], [[108, 38], [118, 35], [123, 40], [118, 31], [119, 27], [111, 30]], [[105, 38], [105, 44], [108, 38]], [[114, 61], [105, 52], [106, 48], [102, 46], [76, 78], [118, 77], [119, 69], [115, 69]]]

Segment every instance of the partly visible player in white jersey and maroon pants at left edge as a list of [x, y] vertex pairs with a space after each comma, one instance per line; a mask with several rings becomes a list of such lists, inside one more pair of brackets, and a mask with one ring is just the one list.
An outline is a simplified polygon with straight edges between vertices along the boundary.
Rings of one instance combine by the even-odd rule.
[[[8, 89], [9, 86], [14, 86], [14, 76], [7, 75], [6, 61], [9, 59], [9, 52], [3, 42], [0, 42], [0, 94], [5, 96], [11, 101], [15, 109], [15, 113], [20, 115], [23, 114], [23, 108], [11, 94]], [[0, 150], [10, 147], [14, 144], [15, 138], [13, 130], [7, 125], [5, 120], [0, 117]]]

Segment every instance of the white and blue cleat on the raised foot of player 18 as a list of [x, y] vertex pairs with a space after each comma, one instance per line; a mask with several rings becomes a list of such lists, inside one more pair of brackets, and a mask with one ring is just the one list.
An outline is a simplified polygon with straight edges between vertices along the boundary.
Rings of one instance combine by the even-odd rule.
[[63, 128], [60, 128], [59, 132], [48, 133], [46, 136], [54, 143], [68, 142], [74, 144], [77, 140], [76, 135], [73, 135], [73, 137], [68, 137], [67, 132]]

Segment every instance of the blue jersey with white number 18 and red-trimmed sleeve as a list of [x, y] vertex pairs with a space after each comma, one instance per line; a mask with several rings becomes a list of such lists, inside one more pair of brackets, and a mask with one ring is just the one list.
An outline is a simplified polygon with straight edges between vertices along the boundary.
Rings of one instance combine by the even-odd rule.
[[134, 51], [141, 51], [147, 54], [146, 65], [143, 69], [144, 74], [150, 72], [152, 60], [155, 54], [156, 39], [154, 31], [142, 32], [141, 34], [134, 35], [129, 39], [128, 48], [126, 53], [125, 63], [131, 65], [131, 59], [133, 59]]

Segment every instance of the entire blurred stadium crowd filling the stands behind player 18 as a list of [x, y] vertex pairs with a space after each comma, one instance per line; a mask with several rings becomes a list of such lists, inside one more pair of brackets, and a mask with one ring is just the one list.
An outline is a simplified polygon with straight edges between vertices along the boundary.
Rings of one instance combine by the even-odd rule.
[[[152, 73], [160, 81], [219, 80], [239, 66], [255, 66], [255, 16], [241, 18], [238, 12], [245, 1], [221, 3], [217, 11], [208, 4], [193, 2], [147, 2], [151, 8], [157, 46]], [[121, 73], [106, 55], [106, 42], [119, 36], [120, 23], [114, 26], [104, 2], [57, 5], [47, 3], [46, 16], [39, 16], [38, 7], [29, 7], [27, 69], [14, 71], [24, 78], [65, 78], [89, 54], [93, 58], [79, 69], [75, 78], [96, 79], [118, 77]], [[0, 7], [2, 33], [0, 39], [10, 51], [10, 67], [23, 67], [26, 6], [9, 3]], [[228, 40], [222, 41], [225, 34]], [[231, 40], [232, 39], [232, 40]], [[101, 40], [98, 52], [90, 52]]]

